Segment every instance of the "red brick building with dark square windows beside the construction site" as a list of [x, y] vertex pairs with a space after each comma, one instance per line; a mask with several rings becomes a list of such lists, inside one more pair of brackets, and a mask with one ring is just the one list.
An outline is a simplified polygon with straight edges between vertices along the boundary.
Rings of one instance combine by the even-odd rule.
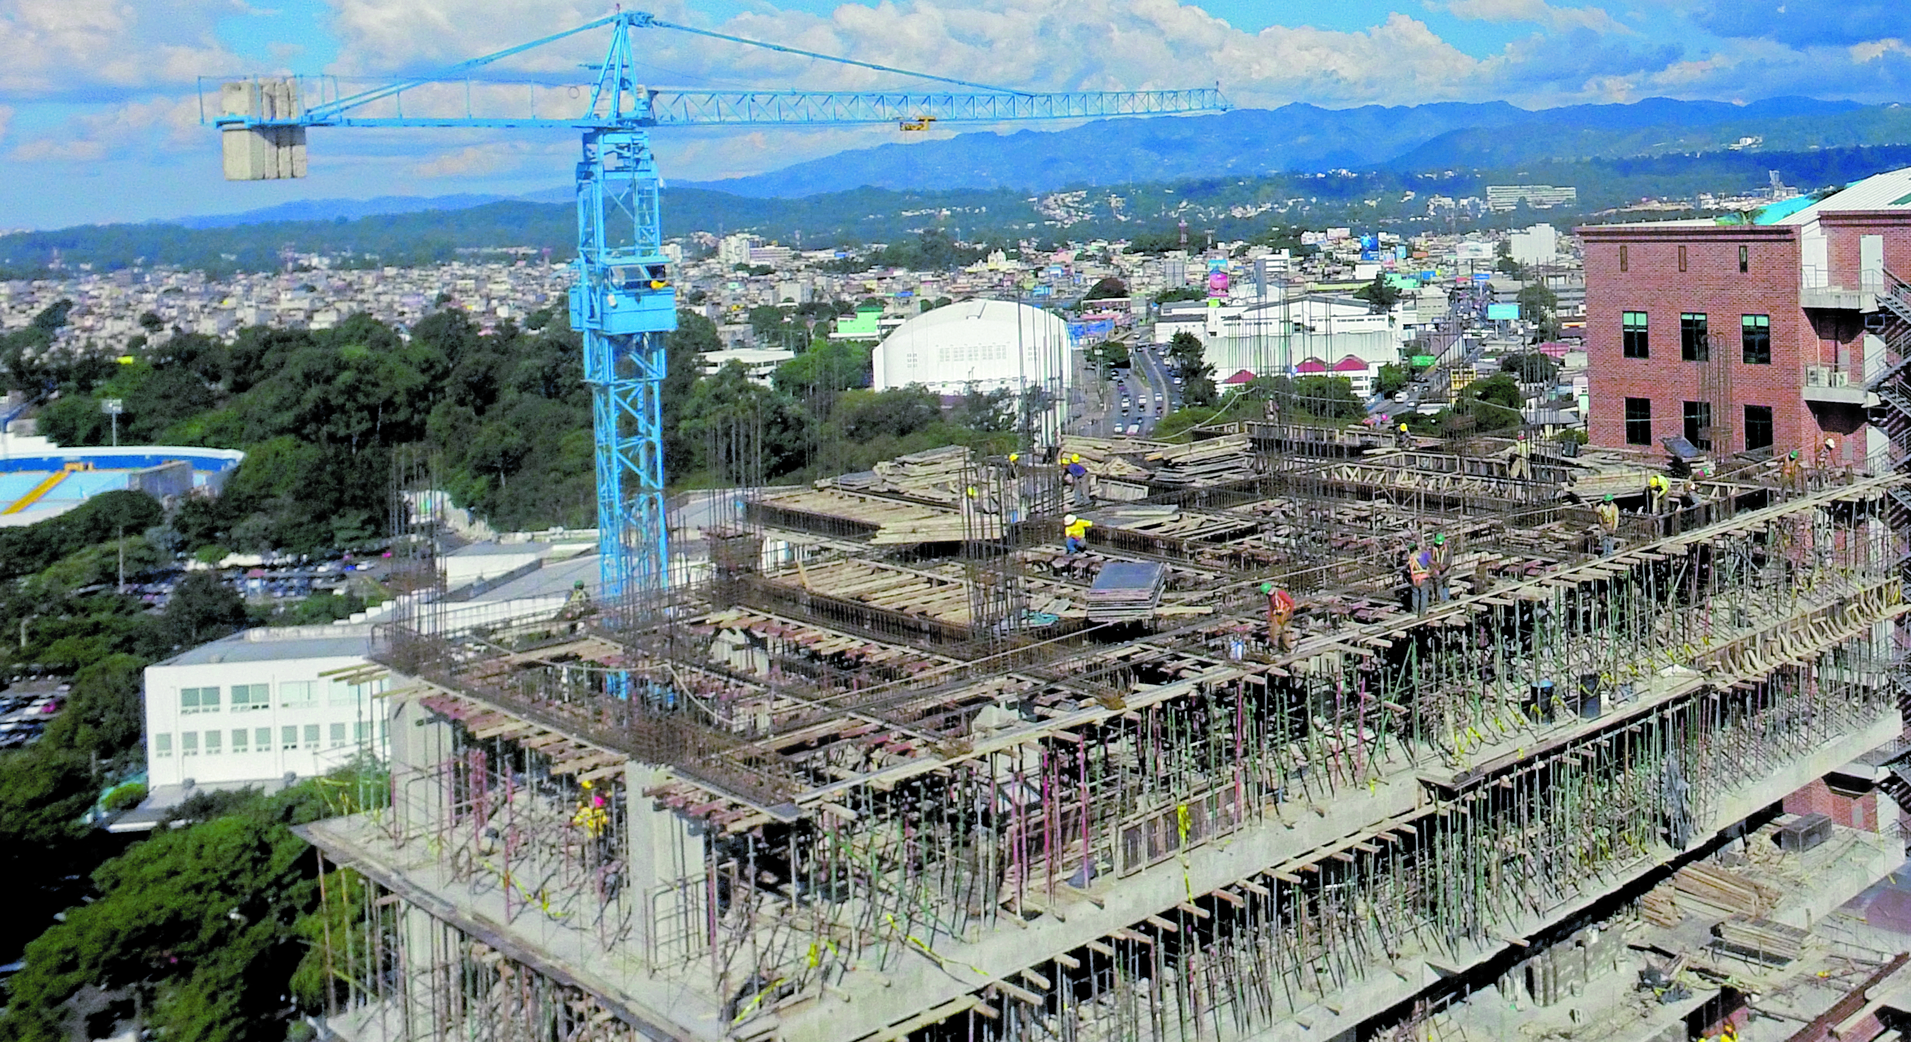
[[1911, 277], [1911, 168], [1750, 222], [1580, 228], [1596, 445], [1684, 436], [1714, 453], [1800, 449], [1882, 470], [1867, 380], [1879, 294]]

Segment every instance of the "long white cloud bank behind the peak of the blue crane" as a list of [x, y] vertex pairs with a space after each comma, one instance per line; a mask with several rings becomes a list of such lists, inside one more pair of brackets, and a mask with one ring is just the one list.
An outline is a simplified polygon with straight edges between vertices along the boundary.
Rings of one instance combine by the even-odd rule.
[[[526, 25], [579, 25], [600, 13], [583, 0], [331, 0], [344, 71], [445, 65], [499, 50]], [[680, 4], [657, 13], [698, 23]], [[707, 25], [707, 23], [705, 23]], [[1244, 33], [1175, 0], [913, 0], [843, 4], [826, 15], [764, 6], [722, 33], [847, 54], [864, 61], [1032, 90], [1198, 86], [1221, 80], [1248, 103], [1406, 101], [1426, 90], [1452, 94], [1481, 63], [1424, 23], [1391, 15], [1359, 33], [1271, 27]], [[566, 40], [516, 69], [581, 78], [579, 61], [600, 57], [606, 34]], [[640, 76], [652, 86], [896, 86], [892, 75], [745, 48], [667, 29], [640, 31]], [[518, 59], [514, 59], [518, 61]]]

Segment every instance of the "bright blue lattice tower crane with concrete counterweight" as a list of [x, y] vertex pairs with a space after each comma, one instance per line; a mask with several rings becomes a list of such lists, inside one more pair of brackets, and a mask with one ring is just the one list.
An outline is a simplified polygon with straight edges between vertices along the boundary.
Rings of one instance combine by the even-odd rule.
[[[558, 40], [610, 31], [596, 82], [581, 111], [564, 117], [478, 115], [472, 86], [482, 71]], [[636, 82], [633, 31], [669, 29], [915, 80], [969, 88], [892, 92], [650, 90]], [[464, 84], [462, 111], [443, 115], [443, 86]], [[436, 96], [434, 96], [436, 88]], [[428, 115], [405, 115], [405, 98], [426, 96]], [[201, 105], [204, 109], [204, 103]], [[571, 329], [583, 335], [596, 440], [602, 597], [642, 602], [659, 593], [669, 564], [663, 512], [665, 336], [676, 329], [676, 291], [663, 254], [661, 187], [650, 130], [663, 126], [843, 126], [892, 122], [1009, 122], [1229, 109], [1219, 88], [1036, 94], [986, 86], [871, 61], [673, 25], [646, 11], [619, 11], [527, 44], [474, 57], [430, 76], [397, 78], [344, 94], [329, 76], [273, 76], [220, 84], [218, 113], [227, 180], [306, 176], [313, 126], [568, 128], [583, 134], [577, 163], [577, 279]]]

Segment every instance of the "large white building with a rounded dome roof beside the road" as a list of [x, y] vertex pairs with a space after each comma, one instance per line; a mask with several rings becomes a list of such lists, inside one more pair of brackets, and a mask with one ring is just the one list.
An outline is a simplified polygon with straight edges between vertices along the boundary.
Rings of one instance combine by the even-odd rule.
[[877, 344], [871, 361], [875, 390], [1043, 388], [1064, 407], [1074, 384], [1068, 323], [1009, 300], [965, 300], [915, 315]]

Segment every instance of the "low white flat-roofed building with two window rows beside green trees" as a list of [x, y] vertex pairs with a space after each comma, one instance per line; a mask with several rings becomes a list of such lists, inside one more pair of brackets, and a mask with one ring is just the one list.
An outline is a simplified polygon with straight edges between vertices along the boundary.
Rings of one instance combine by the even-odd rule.
[[248, 629], [145, 669], [145, 763], [155, 797], [311, 776], [384, 755], [386, 681], [369, 665], [371, 625]]

